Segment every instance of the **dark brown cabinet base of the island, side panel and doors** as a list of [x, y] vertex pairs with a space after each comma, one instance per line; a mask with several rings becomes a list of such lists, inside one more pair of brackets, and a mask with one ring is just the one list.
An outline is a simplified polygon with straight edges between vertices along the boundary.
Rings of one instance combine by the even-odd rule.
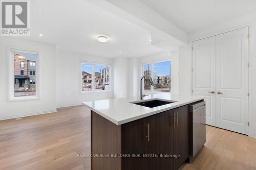
[[[188, 105], [120, 126], [113, 125], [109, 120], [96, 114], [92, 112], [92, 123], [97, 123], [95, 126], [92, 125], [92, 153], [112, 151], [120, 154], [120, 157], [108, 160], [112, 162], [111, 167], [104, 169], [172, 170], [178, 169], [189, 157]], [[94, 117], [100, 121], [95, 121]], [[112, 128], [117, 130], [113, 131]], [[93, 141], [98, 138], [97, 134], [104, 134], [105, 138], [97, 140], [95, 145]], [[117, 141], [116, 147], [104, 147], [105, 143], [112, 146], [113, 141]], [[179, 157], [174, 158], [174, 155]], [[92, 169], [106, 167], [99, 166], [99, 163], [104, 161], [104, 158], [92, 157]], [[120, 166], [115, 166], [115, 163]]]

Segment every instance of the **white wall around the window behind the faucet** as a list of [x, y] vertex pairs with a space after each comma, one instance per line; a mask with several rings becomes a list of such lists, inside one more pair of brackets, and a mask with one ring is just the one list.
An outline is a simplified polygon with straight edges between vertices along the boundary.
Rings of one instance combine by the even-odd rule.
[[[140, 66], [141, 64], [145, 64], [148, 62], [158, 62], [163, 60], [171, 60], [171, 79], [172, 79], [172, 88], [171, 93], [178, 94], [179, 93], [179, 53], [178, 51], [174, 52], [163, 52], [151, 56], [146, 56], [139, 58]], [[140, 69], [141, 70], [141, 69]], [[139, 73], [141, 76], [141, 72]]]

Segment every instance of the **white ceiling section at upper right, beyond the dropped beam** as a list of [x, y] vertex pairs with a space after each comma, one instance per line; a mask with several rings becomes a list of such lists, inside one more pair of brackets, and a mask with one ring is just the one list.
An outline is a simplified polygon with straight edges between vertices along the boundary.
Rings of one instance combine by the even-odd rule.
[[138, 0], [191, 33], [256, 11], [255, 0]]

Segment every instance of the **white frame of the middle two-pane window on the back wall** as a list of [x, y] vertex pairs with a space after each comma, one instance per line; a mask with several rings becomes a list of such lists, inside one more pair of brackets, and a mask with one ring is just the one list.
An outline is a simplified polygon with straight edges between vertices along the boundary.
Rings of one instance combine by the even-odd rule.
[[[92, 64], [92, 90], [88, 91], [82, 91], [82, 64]], [[95, 90], [95, 65], [106, 65], [110, 67], [110, 90]], [[112, 65], [110, 63], [104, 63], [104, 62], [92, 62], [92, 61], [85, 61], [85, 60], [80, 60], [80, 83], [79, 83], [79, 89], [80, 89], [80, 94], [88, 94], [88, 93], [101, 93], [101, 92], [111, 92], [112, 91]]]

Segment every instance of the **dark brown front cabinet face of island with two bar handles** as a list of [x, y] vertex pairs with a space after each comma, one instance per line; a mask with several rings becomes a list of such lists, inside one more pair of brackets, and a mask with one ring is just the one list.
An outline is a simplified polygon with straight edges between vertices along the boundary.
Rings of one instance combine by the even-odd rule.
[[121, 133], [122, 153], [142, 156], [123, 158], [122, 169], [178, 169], [189, 157], [188, 106], [124, 124]]

